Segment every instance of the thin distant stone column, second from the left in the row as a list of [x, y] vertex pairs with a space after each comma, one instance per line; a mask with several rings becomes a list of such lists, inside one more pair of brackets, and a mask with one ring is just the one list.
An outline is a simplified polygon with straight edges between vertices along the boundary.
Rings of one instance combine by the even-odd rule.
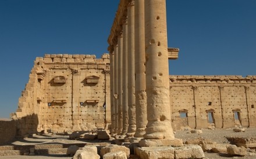
[[118, 133], [118, 45], [114, 47], [114, 107], [115, 107], [115, 131], [114, 133]]

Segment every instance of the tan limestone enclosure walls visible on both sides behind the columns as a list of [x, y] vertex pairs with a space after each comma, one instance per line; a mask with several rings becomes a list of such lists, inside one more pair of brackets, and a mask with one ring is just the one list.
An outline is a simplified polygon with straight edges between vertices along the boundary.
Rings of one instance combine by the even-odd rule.
[[[37, 57], [12, 113], [17, 136], [103, 129], [111, 123], [109, 55]], [[256, 127], [256, 76], [170, 75], [174, 129]]]

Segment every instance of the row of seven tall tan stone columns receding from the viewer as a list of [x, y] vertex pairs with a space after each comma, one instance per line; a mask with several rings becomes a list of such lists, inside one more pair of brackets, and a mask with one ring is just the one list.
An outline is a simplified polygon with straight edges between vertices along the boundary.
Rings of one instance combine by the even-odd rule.
[[115, 35], [109, 40], [111, 133], [174, 139], [169, 104], [166, 2], [134, 0], [125, 6], [119, 27], [112, 30]]

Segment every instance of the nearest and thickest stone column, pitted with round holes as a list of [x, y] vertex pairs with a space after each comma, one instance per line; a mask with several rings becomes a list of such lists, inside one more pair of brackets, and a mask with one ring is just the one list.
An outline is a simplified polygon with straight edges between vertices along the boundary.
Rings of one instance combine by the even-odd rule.
[[166, 1], [145, 0], [144, 4], [148, 120], [144, 138], [148, 140], [140, 146], [168, 146], [175, 136], [170, 121]]

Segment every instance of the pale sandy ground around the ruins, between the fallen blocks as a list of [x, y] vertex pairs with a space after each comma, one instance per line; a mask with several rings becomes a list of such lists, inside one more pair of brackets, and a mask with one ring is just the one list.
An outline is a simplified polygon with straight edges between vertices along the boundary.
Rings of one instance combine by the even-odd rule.
[[[224, 143], [227, 144], [229, 143], [225, 136], [227, 137], [254, 137], [256, 138], [256, 129], [246, 129], [246, 132], [233, 132], [233, 129], [219, 129], [219, 130], [208, 130], [208, 129], [203, 129], [203, 133], [188, 133], [190, 131], [177, 131], [175, 134], [175, 138], [183, 139], [185, 142], [186, 140], [189, 139], [197, 139], [197, 138], [202, 138], [202, 139], [212, 139], [212, 141], [217, 142], [217, 143]], [[18, 140], [16, 142], [13, 142], [12, 144], [16, 145], [27, 145], [27, 144], [38, 144], [38, 143], [84, 143], [88, 142], [88, 140], [69, 140], [68, 136], [60, 136], [60, 135], [35, 135], [32, 138], [26, 138], [22, 140]], [[94, 141], [95, 143], [97, 141]], [[36, 158], [36, 159], [47, 159], [47, 158], [72, 158], [68, 157], [66, 155], [60, 155], [60, 154], [52, 154], [48, 156], [0, 156], [0, 158], [21, 158], [21, 159], [26, 159], [26, 158]], [[209, 159], [218, 159], [218, 158], [247, 158], [247, 159], [253, 159], [256, 158], [256, 156], [246, 156], [246, 157], [232, 157], [228, 156], [227, 154], [223, 153], [205, 153], [205, 158]]]

